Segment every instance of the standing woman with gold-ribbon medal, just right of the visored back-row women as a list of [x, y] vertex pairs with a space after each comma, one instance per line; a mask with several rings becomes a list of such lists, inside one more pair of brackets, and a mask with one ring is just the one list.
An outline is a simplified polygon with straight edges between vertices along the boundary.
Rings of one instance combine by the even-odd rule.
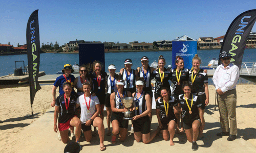
[[169, 80], [172, 81], [172, 72], [168, 71], [164, 65], [165, 65], [165, 59], [162, 55], [159, 56], [158, 58], [158, 69], [153, 71], [153, 75], [152, 78], [156, 79], [156, 83], [155, 83], [155, 99], [156, 101], [161, 97], [161, 93], [160, 93], [160, 88], [161, 87], [166, 87], [169, 90], [170, 96], [171, 94], [171, 90], [170, 90], [170, 84], [169, 84]]

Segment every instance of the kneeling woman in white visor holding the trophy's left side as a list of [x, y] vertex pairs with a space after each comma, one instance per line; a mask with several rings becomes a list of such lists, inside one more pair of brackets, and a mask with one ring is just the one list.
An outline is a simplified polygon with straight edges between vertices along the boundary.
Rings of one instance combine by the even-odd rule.
[[123, 90], [124, 81], [122, 79], [117, 80], [116, 87], [117, 91], [111, 93], [110, 104], [111, 104], [111, 123], [112, 123], [112, 143], [116, 143], [116, 135], [119, 133], [120, 141], [124, 141], [127, 135], [127, 127], [129, 120], [123, 119], [123, 112], [127, 112], [127, 109], [123, 108], [121, 98], [132, 97], [130, 91]]

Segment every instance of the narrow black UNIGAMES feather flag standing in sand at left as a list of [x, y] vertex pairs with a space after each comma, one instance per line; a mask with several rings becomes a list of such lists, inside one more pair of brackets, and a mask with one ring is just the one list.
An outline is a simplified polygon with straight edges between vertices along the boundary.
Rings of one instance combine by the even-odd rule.
[[[31, 116], [33, 114], [33, 101], [35, 93], [41, 89], [38, 83], [39, 63], [40, 63], [40, 41], [39, 41], [39, 24], [38, 10], [35, 10], [29, 17], [27, 23], [27, 54], [29, 69], [29, 88], [30, 88], [30, 104]], [[39, 113], [36, 113], [39, 114]], [[31, 117], [28, 116], [28, 117]]]

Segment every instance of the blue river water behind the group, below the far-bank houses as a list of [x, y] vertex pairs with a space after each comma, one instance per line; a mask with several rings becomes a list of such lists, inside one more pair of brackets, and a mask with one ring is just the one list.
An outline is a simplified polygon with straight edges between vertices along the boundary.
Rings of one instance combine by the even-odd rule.
[[[197, 50], [197, 54], [201, 58], [201, 66], [207, 66], [212, 58], [218, 58], [220, 49], [212, 50]], [[124, 52], [124, 53], [105, 53], [105, 71], [108, 72], [108, 66], [114, 64], [119, 71], [124, 65], [124, 60], [130, 58], [133, 61], [132, 68], [135, 69], [141, 66], [140, 58], [147, 56], [149, 63], [157, 60], [160, 55], [163, 55], [166, 60], [166, 65], [172, 65], [172, 51], [156, 51], [156, 52]], [[27, 55], [6, 55], [0, 56], [0, 76], [14, 73], [15, 62], [25, 61], [25, 66], [28, 65]], [[245, 49], [243, 62], [256, 61], [256, 49]], [[40, 68], [39, 71], [45, 71], [46, 74], [56, 74], [61, 71], [65, 64], [79, 64], [79, 54], [54, 54], [46, 53], [40, 54]], [[17, 67], [23, 66], [18, 63]]]

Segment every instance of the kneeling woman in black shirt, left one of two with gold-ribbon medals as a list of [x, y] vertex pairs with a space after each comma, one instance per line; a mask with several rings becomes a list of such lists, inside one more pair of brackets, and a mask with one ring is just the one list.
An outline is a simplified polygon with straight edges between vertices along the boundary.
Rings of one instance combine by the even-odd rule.
[[170, 96], [170, 91], [167, 87], [160, 88], [161, 98], [156, 101], [156, 112], [159, 128], [162, 132], [163, 139], [170, 138], [170, 145], [174, 145], [175, 125], [177, 118], [174, 114], [174, 109], [181, 111], [178, 107], [178, 101], [175, 97]]

